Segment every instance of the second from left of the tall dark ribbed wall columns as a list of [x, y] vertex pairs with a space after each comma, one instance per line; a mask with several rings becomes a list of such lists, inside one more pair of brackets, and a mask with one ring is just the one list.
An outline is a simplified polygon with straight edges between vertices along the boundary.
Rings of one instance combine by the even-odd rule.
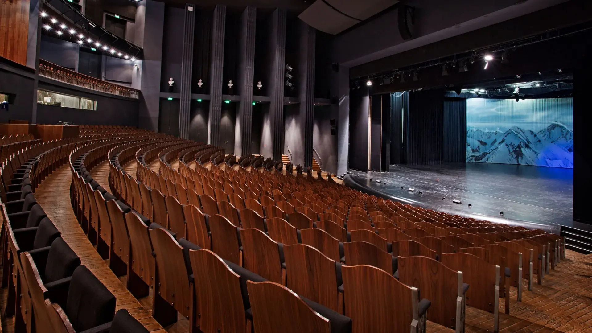
[[224, 71], [224, 35], [226, 34], [226, 6], [216, 5], [212, 26], [212, 56], [210, 66], [210, 114], [208, 143], [220, 145], [222, 115], [222, 75]]

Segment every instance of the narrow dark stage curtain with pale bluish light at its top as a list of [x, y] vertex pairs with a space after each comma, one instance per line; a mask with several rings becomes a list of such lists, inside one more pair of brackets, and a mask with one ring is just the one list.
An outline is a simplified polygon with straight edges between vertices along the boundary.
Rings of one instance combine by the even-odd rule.
[[406, 163], [406, 149], [404, 145], [403, 137], [405, 130], [403, 127], [403, 111], [407, 110], [409, 101], [409, 93], [394, 92], [390, 96], [390, 141], [391, 141], [391, 153], [390, 153], [390, 164], [403, 164]]

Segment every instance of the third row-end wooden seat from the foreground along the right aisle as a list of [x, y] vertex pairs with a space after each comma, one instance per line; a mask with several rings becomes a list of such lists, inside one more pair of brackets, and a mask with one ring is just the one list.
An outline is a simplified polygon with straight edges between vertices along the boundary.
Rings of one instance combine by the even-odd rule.
[[500, 267], [468, 253], [442, 254], [442, 264], [462, 271], [462, 280], [475, 288], [466, 292], [466, 305], [494, 314], [494, 332], [499, 325]]

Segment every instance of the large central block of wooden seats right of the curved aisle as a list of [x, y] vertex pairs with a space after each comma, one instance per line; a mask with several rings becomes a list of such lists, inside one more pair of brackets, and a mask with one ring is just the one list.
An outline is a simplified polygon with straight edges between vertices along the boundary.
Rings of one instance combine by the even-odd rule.
[[[532, 289], [533, 274], [541, 283], [565, 256], [563, 239], [541, 230], [284, 174], [291, 165], [263, 156], [108, 130], [65, 148], [72, 207], [130, 292], [153, 289], [163, 326], [181, 313], [203, 332], [422, 332], [426, 320], [461, 332], [469, 305], [493, 313], [497, 331], [510, 286], [520, 301], [522, 278]], [[91, 171], [105, 160], [99, 184]]]

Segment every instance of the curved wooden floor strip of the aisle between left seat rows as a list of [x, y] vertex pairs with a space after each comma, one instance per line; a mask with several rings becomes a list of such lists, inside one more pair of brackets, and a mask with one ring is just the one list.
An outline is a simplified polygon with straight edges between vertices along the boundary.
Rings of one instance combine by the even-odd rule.
[[[107, 167], [108, 165], [103, 164]], [[72, 210], [70, 203], [70, 182], [72, 174], [70, 167], [64, 166], [53, 172], [44, 180], [35, 192], [37, 203], [43, 207], [47, 216], [62, 233], [62, 238], [81, 258], [83, 265], [95, 274], [105, 287], [117, 298], [115, 310], [127, 309], [134, 318], [138, 319], [151, 332], [163, 333], [162, 326], [156, 322], [150, 311], [144, 308], [140, 302], [128, 290], [126, 286], [115, 276], [108, 265], [96, 252], [94, 246], [82, 231], [81, 226]], [[106, 178], [105, 178], [106, 180]], [[105, 182], [101, 185], [107, 185]]]

